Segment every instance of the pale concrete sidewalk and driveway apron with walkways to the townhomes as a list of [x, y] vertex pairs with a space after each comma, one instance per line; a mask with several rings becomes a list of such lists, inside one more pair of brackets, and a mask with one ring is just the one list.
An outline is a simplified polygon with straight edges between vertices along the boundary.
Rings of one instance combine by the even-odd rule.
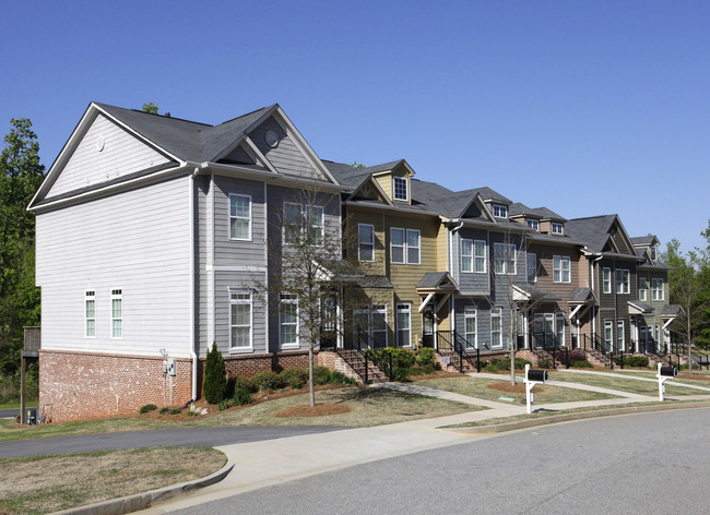
[[[480, 378], [504, 379], [496, 374], [475, 374]], [[653, 402], [655, 397], [628, 394], [594, 386], [552, 381], [548, 384], [579, 390], [591, 390], [617, 395], [616, 399], [583, 400], [576, 403], [536, 405], [535, 409], [563, 410], [594, 406], [623, 406], [629, 403]], [[471, 411], [435, 419], [412, 420], [375, 428], [358, 428], [320, 434], [289, 436], [264, 442], [251, 442], [216, 447], [226, 454], [228, 465], [235, 469], [221, 482], [201, 489], [190, 496], [174, 499], [144, 510], [143, 514], [170, 513], [188, 506], [232, 496], [317, 474], [339, 470], [355, 465], [417, 453], [449, 445], [457, 445], [492, 434], [466, 433], [438, 429], [465, 422], [485, 421], [494, 418], [524, 415], [524, 405], [513, 405], [468, 397], [450, 392], [417, 386], [415, 384], [382, 383], [374, 387], [391, 388], [448, 400], [484, 407]], [[694, 396], [695, 397], [695, 396]], [[684, 397], [685, 398], [685, 397]], [[709, 399], [710, 396], [698, 396]], [[523, 424], [521, 424], [522, 427]]]

